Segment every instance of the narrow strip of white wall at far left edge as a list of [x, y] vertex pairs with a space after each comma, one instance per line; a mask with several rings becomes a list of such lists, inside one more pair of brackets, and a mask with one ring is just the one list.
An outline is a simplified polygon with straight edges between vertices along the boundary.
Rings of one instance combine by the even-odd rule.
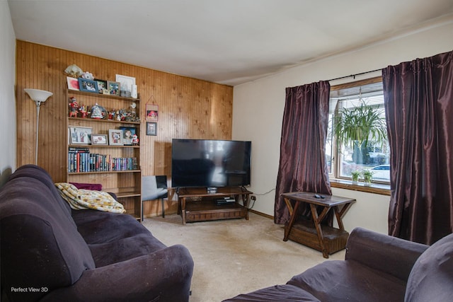
[[7, 1], [0, 1], [0, 187], [16, 170], [16, 35]]

